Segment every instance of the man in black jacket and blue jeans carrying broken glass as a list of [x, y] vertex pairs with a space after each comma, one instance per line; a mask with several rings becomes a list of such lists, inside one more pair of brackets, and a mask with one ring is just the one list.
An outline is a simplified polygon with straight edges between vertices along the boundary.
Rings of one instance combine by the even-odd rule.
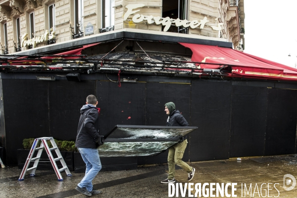
[[75, 146], [86, 163], [86, 174], [75, 188], [80, 193], [91, 197], [102, 193], [93, 189], [92, 181], [101, 170], [101, 162], [96, 143], [99, 141], [98, 116], [99, 108], [94, 95], [87, 97], [86, 105], [81, 108]]

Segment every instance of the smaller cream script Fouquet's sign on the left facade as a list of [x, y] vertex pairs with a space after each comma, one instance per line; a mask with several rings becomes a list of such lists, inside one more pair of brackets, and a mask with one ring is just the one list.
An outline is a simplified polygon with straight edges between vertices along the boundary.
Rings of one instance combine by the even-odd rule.
[[49, 30], [46, 30], [41, 36], [34, 37], [32, 39], [28, 39], [27, 36], [28, 33], [22, 35], [21, 47], [33, 46], [33, 48], [35, 48], [36, 44], [55, 39], [55, 31], [52, 31], [51, 34], [49, 34]]

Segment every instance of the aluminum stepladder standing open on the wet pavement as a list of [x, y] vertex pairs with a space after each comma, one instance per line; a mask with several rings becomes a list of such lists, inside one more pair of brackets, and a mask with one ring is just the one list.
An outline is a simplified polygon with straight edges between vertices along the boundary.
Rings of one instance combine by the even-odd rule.
[[[52, 148], [49, 148], [49, 145], [47, 143], [47, 140], [50, 141]], [[40, 147], [37, 147], [38, 142], [41, 141]], [[63, 181], [63, 178], [61, 176], [61, 171], [65, 170], [67, 176], [72, 176], [61, 153], [60, 150], [58, 149], [57, 145], [55, 144], [54, 140], [52, 137], [43, 137], [43, 138], [36, 138], [33, 142], [32, 148], [30, 149], [29, 155], [27, 157], [27, 160], [25, 162], [24, 168], [21, 172], [21, 175], [19, 177], [19, 181], [24, 181], [24, 177], [25, 177], [25, 173], [29, 170], [31, 170], [30, 176], [35, 176], [35, 171], [39, 162], [39, 159], [41, 157], [41, 153], [43, 151], [43, 148], [45, 148], [48, 156], [49, 156], [49, 161], [53, 167], [53, 170], [55, 172], [55, 174], [57, 175], [58, 181]], [[32, 158], [34, 155], [35, 150], [38, 150], [37, 156]], [[53, 158], [52, 154], [51, 154], [51, 150], [54, 150], [57, 154], [57, 158]], [[34, 161], [34, 164], [31, 168], [29, 167], [30, 162]], [[58, 169], [58, 166], [56, 164], [56, 161], [60, 161], [62, 164], [62, 168]]]

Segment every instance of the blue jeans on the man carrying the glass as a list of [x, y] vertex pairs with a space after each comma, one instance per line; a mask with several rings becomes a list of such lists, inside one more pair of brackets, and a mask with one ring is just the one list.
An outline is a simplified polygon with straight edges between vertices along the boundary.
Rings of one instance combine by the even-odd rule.
[[90, 192], [93, 190], [92, 181], [101, 170], [99, 153], [96, 148], [77, 148], [86, 163], [86, 174], [82, 181], [77, 185], [80, 188], [86, 187]]

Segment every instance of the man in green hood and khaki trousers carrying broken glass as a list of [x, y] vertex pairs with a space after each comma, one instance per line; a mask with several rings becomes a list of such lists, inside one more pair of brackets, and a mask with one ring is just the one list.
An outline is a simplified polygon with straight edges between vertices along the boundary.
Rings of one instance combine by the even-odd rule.
[[[165, 104], [165, 111], [168, 115], [167, 126], [189, 126], [189, 123], [184, 118], [184, 116], [175, 110], [175, 104], [173, 102], [168, 102]], [[168, 151], [168, 178], [162, 180], [161, 183], [175, 183], [175, 164], [183, 168], [188, 173], [188, 181], [191, 181], [195, 174], [195, 168], [189, 166], [186, 162], [182, 160], [184, 156], [185, 149], [187, 147], [188, 141], [187, 136], [183, 138], [183, 142], [174, 145], [169, 148]]]

